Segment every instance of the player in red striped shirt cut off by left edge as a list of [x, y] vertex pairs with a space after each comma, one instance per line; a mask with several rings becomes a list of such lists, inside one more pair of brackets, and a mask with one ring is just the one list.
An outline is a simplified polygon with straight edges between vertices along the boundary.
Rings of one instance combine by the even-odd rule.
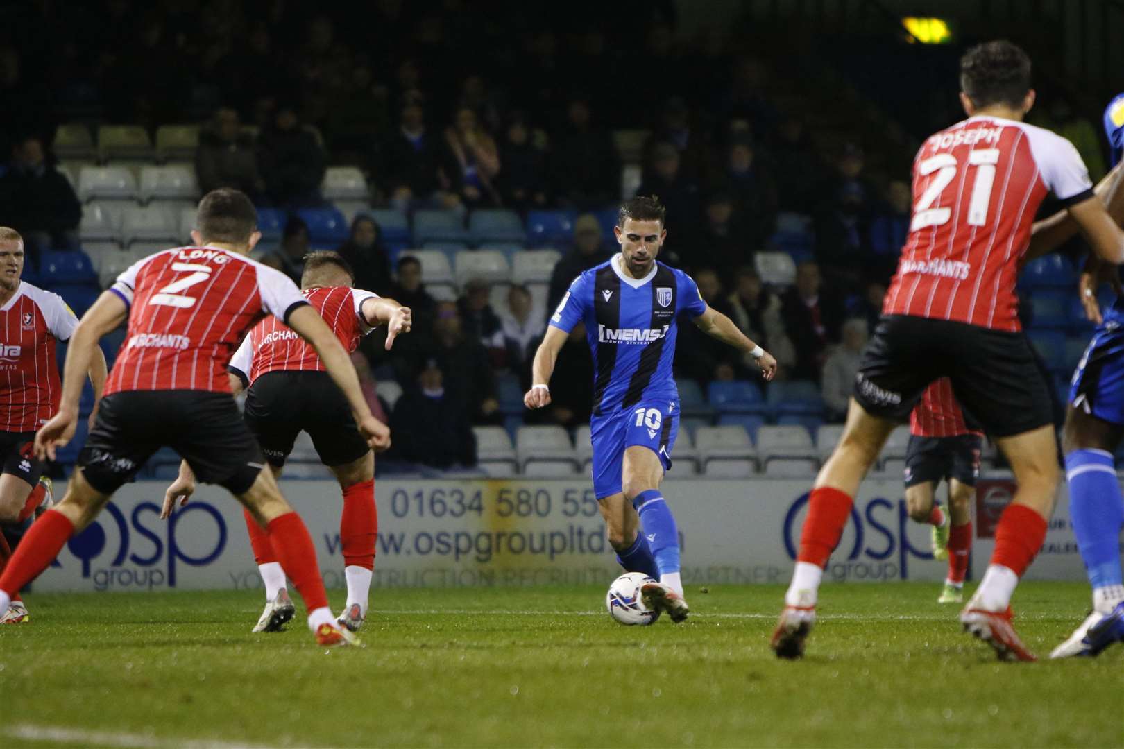
[[[57, 294], [21, 281], [24, 238], [0, 227], [0, 523], [22, 522], [49, 503], [46, 467], [35, 457], [35, 430], [46, 423], [62, 395], [55, 344], [69, 340], [78, 318]], [[101, 350], [90, 360], [94, 402], [106, 384], [106, 357]], [[92, 423], [93, 417], [91, 417]], [[11, 548], [0, 533], [0, 573]], [[27, 606], [12, 595], [0, 609], [0, 624], [29, 621]]]

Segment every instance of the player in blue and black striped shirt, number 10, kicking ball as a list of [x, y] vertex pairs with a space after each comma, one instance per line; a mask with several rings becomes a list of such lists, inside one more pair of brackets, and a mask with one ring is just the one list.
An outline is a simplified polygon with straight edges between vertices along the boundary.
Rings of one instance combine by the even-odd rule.
[[[586, 271], [551, 318], [535, 354], [529, 409], [551, 402], [547, 383], [566, 336], [579, 322], [593, 354], [593, 491], [617, 560], [647, 583], [645, 603], [672, 621], [687, 618], [679, 574], [679, 531], [660, 482], [671, 467], [679, 391], [671, 372], [678, 319], [751, 354], [765, 380], [777, 360], [699, 296], [689, 275], [656, 262], [668, 235], [658, 199], [626, 201], [614, 229], [620, 253]], [[640, 532], [641, 526], [643, 532]]]

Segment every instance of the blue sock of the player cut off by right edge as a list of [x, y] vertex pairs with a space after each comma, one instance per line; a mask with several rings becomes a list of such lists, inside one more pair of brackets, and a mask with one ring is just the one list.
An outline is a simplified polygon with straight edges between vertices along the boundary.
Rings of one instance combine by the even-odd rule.
[[1113, 456], [1104, 450], [1073, 450], [1066, 456], [1069, 517], [1094, 590], [1121, 585], [1120, 535], [1124, 496]]

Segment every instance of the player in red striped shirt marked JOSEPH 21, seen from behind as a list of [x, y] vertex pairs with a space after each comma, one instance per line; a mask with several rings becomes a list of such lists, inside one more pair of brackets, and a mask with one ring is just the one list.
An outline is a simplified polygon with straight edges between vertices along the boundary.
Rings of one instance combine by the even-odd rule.
[[1000, 658], [1034, 659], [1010, 625], [1009, 603], [1045, 539], [1059, 472], [1051, 387], [1019, 329], [1015, 277], [1046, 193], [1106, 261], [1124, 262], [1124, 232], [1094, 195], [1072, 144], [1023, 122], [1034, 91], [1022, 49], [1009, 42], [973, 47], [961, 60], [960, 84], [968, 119], [927, 138], [914, 162], [909, 234], [855, 376], [843, 437], [809, 496], [771, 642], [779, 657], [804, 652], [824, 566], [886, 438], [930, 383], [948, 377], [1018, 482], [960, 620]]

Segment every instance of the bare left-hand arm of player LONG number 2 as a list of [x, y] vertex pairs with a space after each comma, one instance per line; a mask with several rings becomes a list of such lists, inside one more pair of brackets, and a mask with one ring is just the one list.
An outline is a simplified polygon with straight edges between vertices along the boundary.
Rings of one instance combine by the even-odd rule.
[[[98, 341], [119, 326], [128, 311], [124, 299], [114, 292], [106, 291], [79, 321], [66, 346], [63, 394], [58, 413], [43, 424], [35, 435], [35, 455], [40, 460], [44, 458], [54, 460], [55, 448], [64, 446], [74, 436], [74, 428], [78, 423], [78, 404], [82, 396], [82, 383], [89, 376], [90, 368], [94, 366], [94, 351], [101, 356]], [[102, 372], [105, 372], [105, 358], [102, 358]], [[105, 384], [105, 376], [102, 376], [101, 382]]]

